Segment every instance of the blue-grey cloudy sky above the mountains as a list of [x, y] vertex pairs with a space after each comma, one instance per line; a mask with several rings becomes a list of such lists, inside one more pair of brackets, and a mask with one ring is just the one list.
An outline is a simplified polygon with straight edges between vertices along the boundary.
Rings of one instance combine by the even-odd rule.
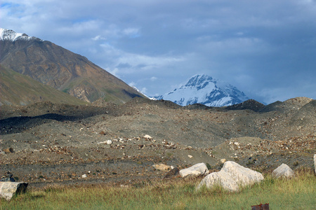
[[267, 104], [316, 99], [315, 0], [0, 3], [0, 27], [84, 55], [149, 96], [206, 73]]

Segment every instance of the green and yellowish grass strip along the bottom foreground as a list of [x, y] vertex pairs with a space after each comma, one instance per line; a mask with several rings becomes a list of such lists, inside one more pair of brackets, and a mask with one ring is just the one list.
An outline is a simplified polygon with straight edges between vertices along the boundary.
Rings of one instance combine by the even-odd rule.
[[294, 179], [265, 180], [228, 193], [220, 188], [196, 191], [202, 179], [147, 181], [130, 186], [58, 186], [0, 200], [0, 209], [316, 209], [316, 177], [299, 174]]

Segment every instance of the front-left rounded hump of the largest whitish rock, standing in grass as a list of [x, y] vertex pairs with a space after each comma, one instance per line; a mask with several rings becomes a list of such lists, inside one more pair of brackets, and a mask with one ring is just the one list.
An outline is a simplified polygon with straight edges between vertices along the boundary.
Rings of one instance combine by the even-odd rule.
[[204, 185], [206, 186], [206, 188], [222, 186], [225, 190], [228, 191], [239, 190], [237, 181], [232, 179], [232, 176], [230, 176], [230, 174], [224, 171], [213, 172], [205, 176], [201, 183], [199, 183], [199, 186], [197, 186], [197, 190], [199, 190], [199, 188], [202, 188], [202, 186]]

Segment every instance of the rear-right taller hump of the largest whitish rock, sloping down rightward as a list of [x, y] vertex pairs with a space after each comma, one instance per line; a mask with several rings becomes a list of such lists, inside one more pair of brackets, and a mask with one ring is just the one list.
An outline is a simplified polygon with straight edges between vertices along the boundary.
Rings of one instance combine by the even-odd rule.
[[227, 172], [242, 186], [251, 185], [264, 179], [263, 175], [254, 170], [239, 165], [237, 162], [227, 161], [221, 171]]

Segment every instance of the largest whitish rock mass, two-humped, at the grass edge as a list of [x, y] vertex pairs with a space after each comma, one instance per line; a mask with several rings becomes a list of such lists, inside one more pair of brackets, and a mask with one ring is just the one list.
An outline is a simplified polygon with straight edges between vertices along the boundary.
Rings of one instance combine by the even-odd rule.
[[225, 190], [238, 191], [241, 186], [252, 185], [263, 180], [263, 175], [246, 167], [242, 167], [236, 162], [225, 162], [220, 172], [213, 172], [199, 183], [197, 190], [206, 186], [206, 188], [213, 188], [214, 186], [222, 186]]

